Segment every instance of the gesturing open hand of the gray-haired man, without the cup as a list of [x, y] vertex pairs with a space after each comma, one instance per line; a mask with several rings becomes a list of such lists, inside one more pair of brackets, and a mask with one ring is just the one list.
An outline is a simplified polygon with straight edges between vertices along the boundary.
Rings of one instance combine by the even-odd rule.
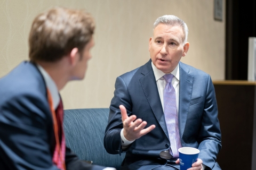
[[142, 122], [140, 118], [136, 120], [137, 117], [135, 115], [131, 115], [129, 117], [126, 112], [126, 108], [123, 105], [120, 105], [119, 108], [121, 110], [122, 122], [124, 126], [124, 137], [127, 140], [133, 141], [135, 139], [139, 139], [143, 135], [156, 128], [155, 125], [151, 125], [144, 129], [147, 125], [146, 121]]

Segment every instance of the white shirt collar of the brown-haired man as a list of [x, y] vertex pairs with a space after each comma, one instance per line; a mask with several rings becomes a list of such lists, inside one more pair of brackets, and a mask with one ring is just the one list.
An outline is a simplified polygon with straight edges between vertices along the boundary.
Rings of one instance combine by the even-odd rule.
[[41, 74], [43, 75], [46, 87], [49, 89], [51, 96], [52, 96], [54, 109], [56, 109], [60, 103], [60, 96], [59, 96], [58, 88], [57, 88], [55, 82], [50, 77], [50, 75], [43, 69], [43, 67], [39, 64], [37, 64], [37, 67], [38, 67], [39, 71], [41, 72]]

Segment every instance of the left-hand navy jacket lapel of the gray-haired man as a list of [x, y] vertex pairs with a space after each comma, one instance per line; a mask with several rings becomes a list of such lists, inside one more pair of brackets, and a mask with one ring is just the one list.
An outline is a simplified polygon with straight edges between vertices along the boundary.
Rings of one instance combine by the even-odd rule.
[[164, 118], [164, 112], [163, 112], [161, 100], [160, 100], [157, 85], [156, 85], [156, 79], [151, 66], [151, 60], [149, 60], [149, 62], [147, 62], [143, 66], [141, 70], [141, 74], [143, 74], [144, 77], [140, 79], [140, 83], [145, 93], [145, 96], [148, 100], [148, 103], [151, 107], [151, 110], [153, 111], [156, 117], [156, 120], [160, 124], [161, 128], [163, 129], [166, 137], [169, 139], [165, 118]]

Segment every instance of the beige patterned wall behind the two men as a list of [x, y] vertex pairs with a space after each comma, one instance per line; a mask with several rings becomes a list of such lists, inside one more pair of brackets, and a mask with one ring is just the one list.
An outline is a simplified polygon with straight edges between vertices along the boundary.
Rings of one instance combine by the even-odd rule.
[[[225, 1], [223, 21], [213, 19], [213, 0], [0, 0], [0, 77], [28, 60], [28, 33], [35, 16], [53, 6], [85, 8], [95, 18], [93, 58], [83, 81], [61, 91], [65, 109], [109, 107], [115, 79], [149, 60], [154, 21], [177, 15], [189, 28], [190, 49], [182, 62], [225, 78]], [[1, 88], [1, 87], [0, 87]]]

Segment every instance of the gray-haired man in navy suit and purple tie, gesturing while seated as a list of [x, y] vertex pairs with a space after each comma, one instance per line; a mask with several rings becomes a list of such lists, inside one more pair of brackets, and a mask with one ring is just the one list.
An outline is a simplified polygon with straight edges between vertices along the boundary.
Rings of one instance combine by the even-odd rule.
[[[116, 79], [104, 145], [110, 154], [126, 152], [122, 169], [179, 169], [174, 152], [180, 147], [200, 150], [189, 170], [220, 169], [214, 87], [209, 74], [180, 62], [189, 49], [187, 36], [187, 25], [177, 16], [159, 17], [149, 39], [149, 62]], [[172, 75], [170, 83], [165, 74]], [[175, 131], [166, 125], [171, 124], [165, 118], [167, 84], [175, 89], [172, 112], [177, 118], [171, 120]]]

